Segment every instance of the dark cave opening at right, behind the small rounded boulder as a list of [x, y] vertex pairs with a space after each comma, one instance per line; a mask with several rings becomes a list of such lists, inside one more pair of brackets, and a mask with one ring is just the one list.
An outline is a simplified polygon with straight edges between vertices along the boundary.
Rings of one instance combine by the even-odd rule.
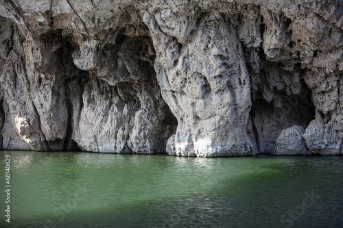
[[259, 153], [273, 153], [276, 139], [284, 129], [293, 125], [306, 129], [314, 120], [316, 108], [311, 100], [311, 90], [307, 88], [303, 79], [300, 82], [300, 94], [288, 96], [283, 91], [274, 91], [279, 99], [279, 105], [273, 101], [266, 101], [262, 91], [255, 94], [255, 99], [252, 96], [247, 134]]

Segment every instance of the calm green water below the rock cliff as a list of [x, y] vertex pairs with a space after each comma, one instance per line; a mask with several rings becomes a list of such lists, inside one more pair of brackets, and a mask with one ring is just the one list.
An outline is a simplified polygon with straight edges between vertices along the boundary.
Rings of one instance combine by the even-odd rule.
[[342, 156], [1, 151], [1, 157], [0, 227], [343, 227]]

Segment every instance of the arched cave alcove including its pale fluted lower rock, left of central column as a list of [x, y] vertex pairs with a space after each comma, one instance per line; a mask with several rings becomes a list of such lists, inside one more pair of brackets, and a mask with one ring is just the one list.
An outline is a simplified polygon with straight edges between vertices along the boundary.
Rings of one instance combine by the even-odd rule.
[[78, 71], [85, 86], [73, 139], [85, 151], [165, 153], [178, 123], [161, 95], [149, 29], [132, 9], [123, 14], [131, 19], [97, 35], [95, 66]]

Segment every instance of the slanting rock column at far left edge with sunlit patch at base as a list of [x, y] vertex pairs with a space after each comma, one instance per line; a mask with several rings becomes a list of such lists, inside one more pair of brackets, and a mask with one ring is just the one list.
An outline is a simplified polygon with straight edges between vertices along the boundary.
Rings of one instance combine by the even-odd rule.
[[[22, 31], [10, 21], [0, 18], [1, 41], [7, 48], [1, 50], [0, 84], [3, 90], [2, 149], [47, 149], [40, 118], [34, 102], [32, 88], [24, 58]], [[23, 143], [24, 142], [24, 143]]]

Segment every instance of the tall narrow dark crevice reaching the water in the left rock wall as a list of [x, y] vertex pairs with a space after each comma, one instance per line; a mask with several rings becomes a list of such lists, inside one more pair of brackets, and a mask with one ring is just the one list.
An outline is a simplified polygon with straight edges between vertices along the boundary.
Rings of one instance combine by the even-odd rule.
[[[67, 123], [65, 128], [65, 137], [56, 140], [49, 140], [47, 142], [49, 149], [52, 151], [58, 150], [73, 150], [80, 151], [78, 144], [72, 140], [73, 126], [72, 118], [76, 107], [75, 99], [78, 103], [82, 103], [82, 94], [76, 94], [77, 92], [83, 91], [86, 81], [89, 79], [88, 71], [82, 71], [73, 64], [72, 53], [78, 47], [75, 40], [71, 35], [63, 35], [62, 29], [51, 29], [46, 34], [43, 34], [39, 38], [40, 42], [43, 42], [45, 48], [49, 46], [56, 45], [58, 49], [54, 51], [53, 55], [56, 56], [56, 62], [54, 64], [57, 66], [54, 68], [53, 73], [58, 77], [56, 80], [59, 81], [58, 88], [53, 88], [55, 91], [63, 90], [59, 102], [64, 103], [67, 108]], [[41, 80], [41, 79], [39, 79]], [[41, 84], [41, 81], [40, 81]], [[74, 100], [74, 101], [72, 101]], [[58, 104], [62, 105], [62, 104]]]

